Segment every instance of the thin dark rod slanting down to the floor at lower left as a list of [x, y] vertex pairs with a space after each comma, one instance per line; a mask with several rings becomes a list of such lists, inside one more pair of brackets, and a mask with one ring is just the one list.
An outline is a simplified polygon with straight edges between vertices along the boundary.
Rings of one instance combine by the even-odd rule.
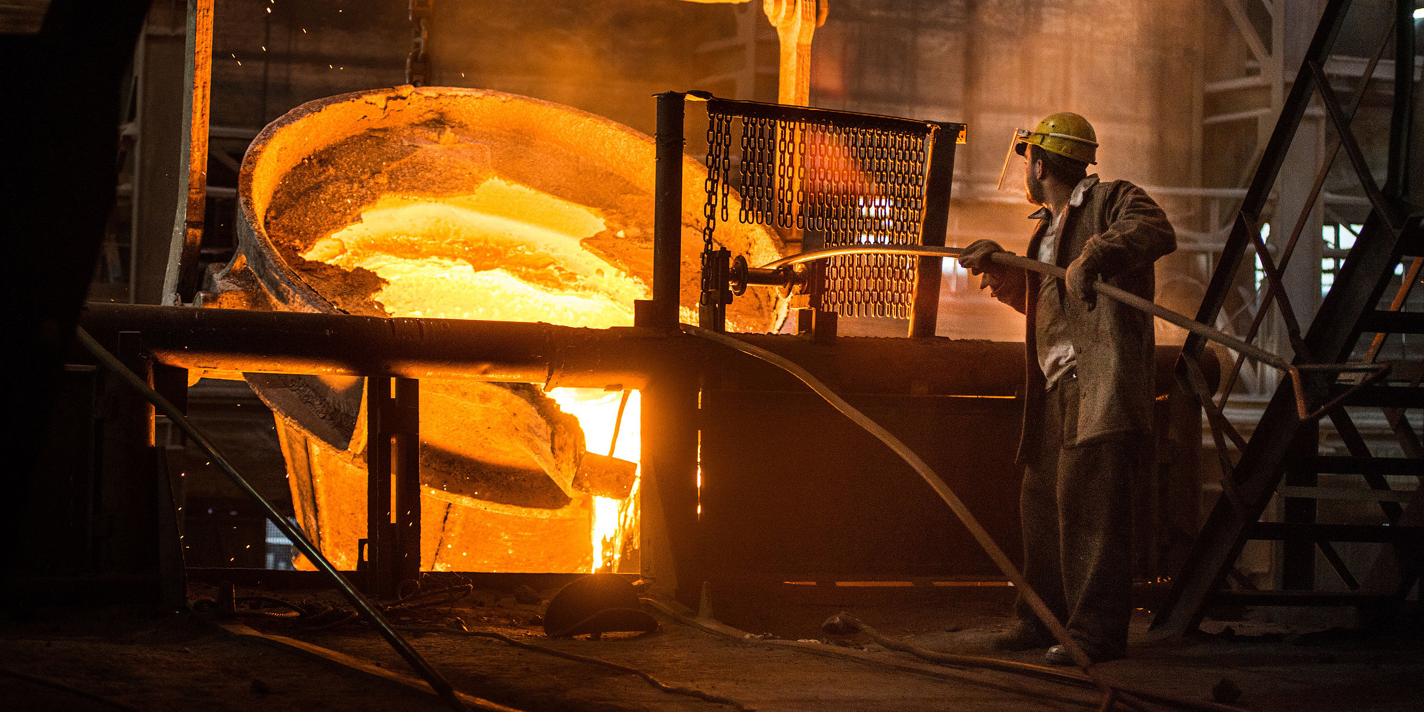
[[[221, 467], [222, 471], [228, 474], [228, 478], [232, 480], [232, 484], [235, 484], [239, 490], [242, 490], [242, 493], [246, 494], [249, 500], [256, 503], [266, 514], [266, 518], [272, 524], [275, 524], [276, 528], [282, 530], [282, 534], [292, 541], [292, 545], [295, 545], [302, 554], [305, 554], [306, 558], [309, 558], [313, 564], [316, 564], [316, 568], [325, 572], [328, 578], [330, 578], [332, 582], [336, 584], [337, 591], [340, 591], [342, 595], [346, 597], [346, 600], [352, 605], [355, 605], [356, 609], [376, 627], [376, 631], [380, 632], [380, 637], [384, 638], [386, 642], [389, 642], [390, 646], [396, 649], [396, 654], [399, 654], [410, 665], [410, 668], [416, 671], [417, 675], [420, 675], [426, 682], [430, 684], [430, 688], [434, 689], [437, 695], [440, 695], [440, 699], [443, 699], [450, 706], [450, 709], [456, 709], [459, 712], [466, 712], [468, 709], [464, 706], [460, 698], [456, 696], [454, 688], [450, 686], [449, 682], [446, 682], [444, 676], [440, 675], [440, 672], [434, 669], [434, 666], [431, 666], [430, 662], [426, 661], [420, 655], [420, 652], [417, 652], [410, 645], [410, 641], [407, 641], [403, 635], [400, 635], [400, 632], [392, 628], [390, 621], [387, 621], [386, 617], [382, 615], [380, 611], [375, 605], [372, 605], [372, 602], [366, 600], [366, 597], [362, 595], [360, 591], [357, 591], [356, 587], [353, 587], [350, 581], [347, 581], [346, 577], [343, 577], [340, 571], [337, 571], [336, 567], [332, 565], [332, 562], [325, 555], [322, 555], [322, 553], [316, 547], [313, 547], [312, 543], [308, 541], [306, 537], [302, 535], [302, 533], [296, 527], [292, 525], [290, 521], [286, 520], [286, 517], [278, 513], [276, 508], [272, 507], [272, 503], [266, 500], [266, 497], [262, 497], [262, 494], [258, 493], [252, 487], [252, 484], [249, 484], [248, 480], [238, 473], [238, 470], [232, 466], [232, 463], [229, 463], [228, 459], [224, 457], [221, 451], [218, 451], [218, 447], [212, 444], [211, 440], [208, 440], [208, 436], [202, 434], [202, 431], [198, 430], [192, 424], [192, 422], [189, 422], [188, 417], [184, 416], [177, 407], [174, 407], [174, 404], [169, 403], [168, 399], [162, 397], [157, 390], [151, 389], [148, 383], [144, 383], [144, 380], [140, 379], [138, 375], [135, 375], [132, 370], [124, 366], [124, 363], [120, 362], [112, 353], [110, 353], [108, 349], [105, 349], [97, 340], [94, 340], [94, 337], [90, 336], [90, 333], [85, 332], [83, 326], [75, 328], [75, 333], [84, 349], [88, 350], [91, 355], [94, 355], [94, 357], [98, 359], [100, 365], [104, 366], [104, 369], [110, 370], [130, 387], [141, 393], [150, 403], [154, 404], [155, 409], [158, 409], [158, 412], [167, 416], [175, 426], [178, 426], [179, 430], [187, 433], [188, 437], [191, 437], [204, 450], [206, 450], [209, 456], [212, 456], [212, 461], [216, 463], [218, 467]], [[507, 708], [504, 705], [498, 705], [488, 701], [480, 701], [478, 706], [480, 709], [490, 709], [496, 712], [518, 712], [514, 708]]]

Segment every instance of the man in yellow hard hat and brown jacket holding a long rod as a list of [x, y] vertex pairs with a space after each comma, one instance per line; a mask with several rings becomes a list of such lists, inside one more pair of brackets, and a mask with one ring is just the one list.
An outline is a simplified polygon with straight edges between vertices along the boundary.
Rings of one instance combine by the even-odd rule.
[[[1162, 208], [1126, 181], [1088, 175], [1098, 138], [1085, 118], [1061, 112], [1015, 130], [1004, 175], [1024, 168], [1038, 228], [1028, 256], [1064, 266], [1067, 279], [1005, 268], [1002, 248], [971, 244], [961, 265], [983, 273], [995, 299], [1024, 313], [1024, 467], [1020, 506], [1024, 577], [1095, 662], [1126, 655], [1132, 594], [1134, 476], [1151, 467], [1152, 318], [1095, 299], [1104, 281], [1153, 296], [1152, 263], [1176, 249]], [[1021, 158], [1020, 158], [1021, 157]], [[1004, 177], [1000, 179], [1004, 185]], [[1027, 602], [995, 648], [1025, 651], [1054, 641]], [[1047, 659], [1071, 665], [1062, 645]]]

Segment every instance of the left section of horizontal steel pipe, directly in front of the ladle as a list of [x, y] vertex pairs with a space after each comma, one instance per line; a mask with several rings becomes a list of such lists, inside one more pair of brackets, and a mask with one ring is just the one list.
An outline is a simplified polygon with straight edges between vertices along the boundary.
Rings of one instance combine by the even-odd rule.
[[147, 305], [91, 303], [80, 320], [100, 339], [141, 332], [144, 347], [161, 363], [192, 370], [578, 387], [641, 387], [659, 359], [655, 349], [638, 345], [666, 340], [634, 328]]

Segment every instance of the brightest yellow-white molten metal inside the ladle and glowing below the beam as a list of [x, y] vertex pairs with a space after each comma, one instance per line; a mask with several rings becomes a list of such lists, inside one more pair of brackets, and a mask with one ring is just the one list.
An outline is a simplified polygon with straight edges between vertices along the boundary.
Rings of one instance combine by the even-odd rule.
[[[631, 326], [632, 302], [648, 298], [648, 288], [584, 246], [604, 229], [595, 209], [490, 178], [468, 195], [382, 197], [360, 222], [316, 241], [302, 258], [375, 272], [384, 285], [373, 299], [390, 316]], [[578, 419], [588, 451], [608, 453], [621, 392], [553, 389], [548, 396]], [[632, 392], [617, 450], [608, 453], [634, 463], [638, 400]], [[570, 494], [591, 500], [591, 570], [615, 571], [625, 541], [637, 541], [637, 483], [624, 500]]]

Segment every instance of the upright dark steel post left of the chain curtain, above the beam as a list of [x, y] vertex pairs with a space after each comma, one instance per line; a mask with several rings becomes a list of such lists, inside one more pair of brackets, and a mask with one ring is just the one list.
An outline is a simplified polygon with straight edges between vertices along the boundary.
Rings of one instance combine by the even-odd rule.
[[682, 283], [682, 132], [686, 94], [658, 94], [656, 171], [652, 208], [652, 313], [648, 325], [678, 326]]

